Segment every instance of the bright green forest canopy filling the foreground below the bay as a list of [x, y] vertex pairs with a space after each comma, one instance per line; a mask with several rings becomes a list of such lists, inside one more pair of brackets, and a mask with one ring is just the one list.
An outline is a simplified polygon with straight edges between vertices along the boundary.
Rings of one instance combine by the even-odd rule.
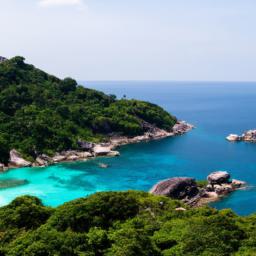
[[0, 255], [253, 256], [255, 225], [256, 215], [146, 192], [96, 193], [57, 208], [24, 196], [0, 208]]

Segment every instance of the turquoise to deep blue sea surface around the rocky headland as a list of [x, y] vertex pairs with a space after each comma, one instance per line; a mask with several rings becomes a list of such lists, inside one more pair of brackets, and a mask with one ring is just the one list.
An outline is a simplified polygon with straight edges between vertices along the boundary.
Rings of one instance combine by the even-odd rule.
[[[35, 195], [46, 205], [99, 191], [148, 191], [175, 176], [199, 180], [214, 170], [227, 170], [248, 188], [213, 206], [248, 215], [256, 212], [256, 144], [230, 143], [225, 137], [256, 128], [256, 83], [227, 82], [84, 82], [86, 87], [161, 105], [196, 126], [184, 136], [121, 147], [118, 158], [98, 158], [47, 168], [21, 168], [0, 175], [27, 184], [0, 189], [0, 205], [19, 195]], [[109, 165], [102, 169], [100, 163]]]

